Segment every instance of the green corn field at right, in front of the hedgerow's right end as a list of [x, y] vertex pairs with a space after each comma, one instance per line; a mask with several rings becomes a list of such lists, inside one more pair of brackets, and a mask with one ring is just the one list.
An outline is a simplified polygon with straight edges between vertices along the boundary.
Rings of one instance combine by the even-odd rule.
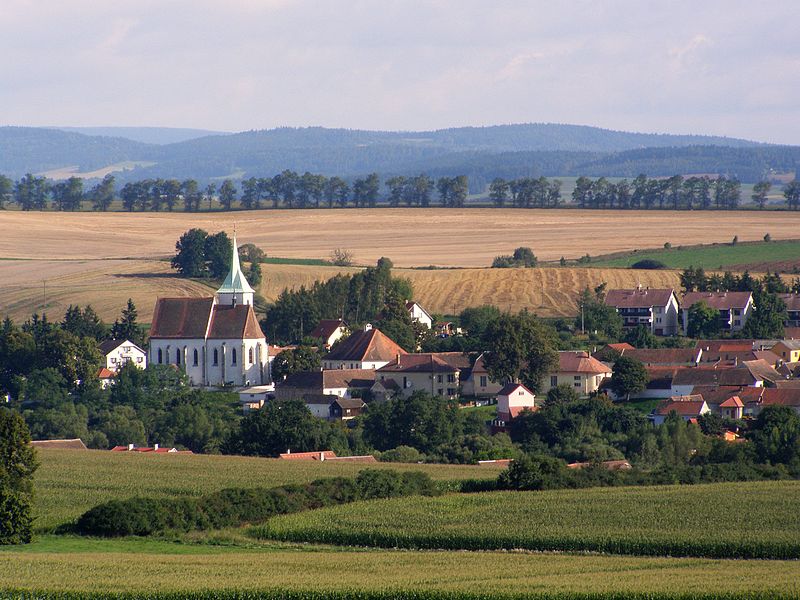
[[254, 531], [362, 546], [800, 558], [800, 482], [378, 500], [280, 516]]

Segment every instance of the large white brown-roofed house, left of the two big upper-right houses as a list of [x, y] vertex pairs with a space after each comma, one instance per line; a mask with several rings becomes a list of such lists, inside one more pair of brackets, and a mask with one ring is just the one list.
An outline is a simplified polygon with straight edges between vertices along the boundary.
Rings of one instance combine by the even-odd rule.
[[626, 328], [644, 326], [654, 335], [678, 335], [678, 298], [672, 289], [608, 290], [605, 303], [617, 309]]

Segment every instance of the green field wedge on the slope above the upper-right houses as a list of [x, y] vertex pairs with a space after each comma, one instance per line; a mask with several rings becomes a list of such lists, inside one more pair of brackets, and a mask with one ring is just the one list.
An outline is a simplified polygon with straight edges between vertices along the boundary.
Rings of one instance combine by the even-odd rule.
[[[669, 236], [667, 236], [669, 237]], [[787, 240], [777, 242], [748, 242], [735, 246], [730, 244], [712, 244], [709, 246], [691, 246], [659, 250], [644, 250], [625, 253], [623, 256], [592, 260], [596, 267], [630, 267], [644, 259], [658, 260], [670, 269], [685, 269], [688, 266], [702, 267], [707, 270], [726, 269], [734, 266], [752, 265], [753, 270], [767, 270], [770, 263], [800, 263], [800, 241]], [[763, 267], [759, 268], [759, 265]]]

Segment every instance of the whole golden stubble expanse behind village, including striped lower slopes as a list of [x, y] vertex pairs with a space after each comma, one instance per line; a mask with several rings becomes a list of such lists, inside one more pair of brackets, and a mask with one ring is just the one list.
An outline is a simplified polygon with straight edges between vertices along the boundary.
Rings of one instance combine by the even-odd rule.
[[[263, 210], [229, 213], [0, 213], [0, 316], [25, 319], [69, 304], [89, 304], [113, 321], [128, 298], [149, 322], [158, 296], [205, 296], [213, 287], [174, 276], [165, 260], [187, 229], [232, 233], [270, 256], [325, 258], [334, 248], [358, 264], [392, 259], [416, 299], [443, 314], [495, 304], [541, 316], [575, 313], [586, 285], [677, 287], [675, 271], [540, 268], [486, 269], [517, 246], [541, 260], [699, 242], [797, 237], [800, 214], [785, 212], [622, 212], [518, 209]], [[5, 259], [5, 260], [3, 260]], [[9, 260], [14, 259], [14, 260]], [[459, 267], [421, 270], [409, 267]], [[470, 268], [471, 267], [471, 268]], [[261, 294], [310, 285], [348, 269], [266, 264]]]

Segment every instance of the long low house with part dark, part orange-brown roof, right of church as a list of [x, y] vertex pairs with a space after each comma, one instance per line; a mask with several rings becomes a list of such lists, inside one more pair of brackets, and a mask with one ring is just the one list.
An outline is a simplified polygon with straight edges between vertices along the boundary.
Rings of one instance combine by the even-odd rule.
[[[327, 371], [301, 371], [292, 373], [275, 388], [277, 400], [297, 399], [306, 401], [306, 396], [333, 396], [352, 398], [360, 396], [375, 383], [372, 369], [333, 369]], [[333, 398], [330, 399], [333, 401]], [[327, 405], [329, 405], [328, 402]], [[325, 412], [327, 416], [327, 409]]]

